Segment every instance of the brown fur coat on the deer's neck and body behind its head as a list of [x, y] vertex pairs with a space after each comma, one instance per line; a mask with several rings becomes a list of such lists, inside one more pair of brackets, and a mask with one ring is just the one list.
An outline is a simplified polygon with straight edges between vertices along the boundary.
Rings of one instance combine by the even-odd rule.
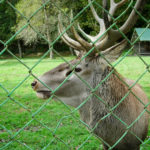
[[[108, 67], [104, 71], [102, 79], [100, 79], [100, 76], [95, 76], [95, 83], [98, 83], [99, 79], [103, 80], [110, 71], [111, 68]], [[109, 106], [109, 108], [113, 108], [129, 91], [128, 86], [120, 79], [129, 84], [129, 86], [134, 83], [134, 81], [124, 79], [121, 75], [114, 71], [109, 79], [107, 79], [101, 85], [101, 87], [99, 87], [96, 93], [105, 101], [106, 105], [102, 104], [97, 98], [93, 97], [90, 107], [90, 126], [92, 128], [95, 127], [95, 125], [99, 122], [101, 118], [103, 118], [110, 112], [107, 106]], [[148, 98], [141, 90], [139, 85], [135, 85], [134, 87], [132, 87], [132, 92], [137, 95], [137, 97], [139, 97], [145, 105], [148, 103]], [[100, 121], [100, 123], [94, 130], [94, 133], [97, 136], [101, 137], [103, 140], [105, 140], [110, 146], [113, 146], [117, 142], [117, 140], [121, 138], [121, 136], [125, 133], [127, 126], [132, 124], [144, 110], [144, 105], [138, 101], [138, 99], [132, 94], [132, 92], [130, 92], [130, 94], [119, 104], [119, 106], [117, 106], [113, 110], [113, 114], [120, 118], [126, 124], [126, 126], [118, 121], [116, 117], [114, 117], [114, 115], [110, 115], [106, 119]], [[149, 108], [147, 108], [147, 110], [149, 110]], [[140, 141], [138, 141], [136, 137], [131, 133], [134, 133], [141, 140], [144, 140], [146, 138], [147, 131], [148, 113], [145, 112], [143, 116], [129, 129], [127, 135], [120, 141], [119, 144], [116, 145], [114, 150], [139, 149]], [[107, 150], [106, 146], [105, 149]]]

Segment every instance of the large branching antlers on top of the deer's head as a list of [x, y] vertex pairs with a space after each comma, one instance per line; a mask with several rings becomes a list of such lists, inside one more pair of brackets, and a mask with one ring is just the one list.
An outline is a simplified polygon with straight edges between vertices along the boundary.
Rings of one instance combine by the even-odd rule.
[[[88, 3], [90, 4], [90, 8], [92, 11], [92, 14], [95, 18], [95, 20], [99, 23], [99, 33], [96, 36], [91, 36], [86, 34], [82, 28], [80, 27], [78, 23], [78, 30], [79, 32], [84, 35], [87, 40], [90, 40], [90, 42], [87, 42], [85, 39], [83, 39], [74, 26], [71, 26], [72, 33], [74, 35], [74, 39], [70, 38], [68, 34], [65, 32], [63, 33], [63, 25], [61, 23], [60, 17], [59, 17], [59, 25], [58, 25], [58, 30], [59, 33], [62, 34], [62, 40], [69, 45], [72, 48], [78, 49], [78, 50], [83, 50], [83, 51], [89, 51], [93, 46], [95, 47], [96, 50], [103, 51], [110, 46], [114, 45], [114, 43], [119, 40], [122, 37], [122, 34], [118, 30], [110, 29], [106, 32], [106, 28], [108, 28], [107, 23], [112, 21], [112, 16], [114, 16], [116, 10], [123, 6], [128, 0], [121, 0], [118, 3], [115, 3], [114, 0], [110, 0], [110, 9], [109, 9], [109, 14], [106, 18], [106, 13], [104, 18], [100, 18], [93, 7], [93, 1], [88, 0]], [[131, 14], [129, 15], [128, 19], [125, 21], [125, 23], [119, 28], [119, 30], [126, 34], [129, 32], [129, 30], [134, 26], [138, 14], [136, 13], [135, 10], [140, 11], [141, 6], [144, 6], [145, 0], [137, 0], [136, 4], [134, 6], [134, 9], [132, 10]], [[103, 4], [107, 5], [105, 0], [103, 0]], [[104, 9], [107, 7], [105, 6]], [[72, 18], [72, 13], [71, 13], [71, 18]], [[107, 20], [107, 22], [106, 22]], [[93, 52], [94, 53], [94, 52]]]

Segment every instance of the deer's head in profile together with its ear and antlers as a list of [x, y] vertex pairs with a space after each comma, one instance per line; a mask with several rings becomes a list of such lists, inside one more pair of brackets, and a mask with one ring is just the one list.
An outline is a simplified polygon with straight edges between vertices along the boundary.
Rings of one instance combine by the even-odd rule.
[[[88, 0], [88, 2], [91, 3], [90, 8], [92, 14], [99, 23], [100, 31], [96, 36], [91, 36], [86, 34], [81, 29], [79, 24], [78, 31], [81, 32], [81, 34], [84, 34], [85, 37], [90, 40], [90, 42], [87, 42], [84, 38], [82, 38], [74, 26], [71, 26], [74, 39], [70, 38], [66, 32], [63, 33], [63, 25], [59, 16], [58, 30], [60, 34], [63, 33], [61, 36], [62, 40], [68, 46], [79, 50], [80, 54], [77, 59], [70, 61], [69, 64], [61, 64], [55, 69], [48, 71], [39, 77], [39, 80], [44, 82], [49, 89], [41, 82], [37, 80], [34, 81], [32, 83], [32, 87], [37, 92], [37, 96], [41, 98], [49, 98], [51, 91], [55, 90], [67, 78], [68, 75], [74, 72], [75, 74], [72, 73], [68, 80], [58, 90], [56, 90], [55, 95], [66, 104], [74, 107], [77, 107], [84, 100], [84, 98], [87, 96], [87, 85], [81, 81], [80, 77], [90, 85], [95, 70], [103, 74], [103, 71], [108, 66], [106, 59], [109, 62], [113, 62], [120, 56], [127, 42], [123, 40], [120, 43], [115, 43], [122, 38], [121, 33], [126, 34], [133, 27], [138, 17], [135, 9], [140, 10], [144, 2], [143, 0], [137, 0], [135, 9], [132, 10], [128, 19], [119, 28], [119, 31], [112, 28], [107, 30], [110, 22], [114, 21], [112, 20], [112, 17], [114, 16], [115, 11], [127, 1], [128, 0], [121, 0], [118, 3], [115, 3], [114, 0], [110, 0], [109, 14], [106, 15], [106, 12], [104, 11], [103, 18], [100, 18], [92, 5], [92, 1]], [[107, 5], [107, 1], [103, 1], [103, 6], [105, 8], [108, 7]], [[94, 48], [94, 50], [84, 60], [81, 61], [83, 54], [92, 48]], [[100, 55], [98, 54], [99, 52], [101, 53]], [[76, 67], [73, 67], [75, 65]]]

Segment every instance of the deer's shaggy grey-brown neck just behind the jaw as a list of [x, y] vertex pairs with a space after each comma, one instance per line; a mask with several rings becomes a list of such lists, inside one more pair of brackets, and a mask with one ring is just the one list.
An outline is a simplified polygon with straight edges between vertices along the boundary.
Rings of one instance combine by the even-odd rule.
[[[98, 84], [100, 84], [100, 82], [110, 74], [111, 71], [112, 68], [109, 66], [107, 66], [103, 71], [95, 70], [90, 83], [91, 87], [95, 89]], [[80, 108], [79, 112], [81, 119], [88, 125], [92, 123], [94, 126], [100, 118], [108, 114], [109, 108], [115, 106], [121, 100], [122, 95], [124, 96], [125, 93], [127, 93], [127, 87], [120, 81], [118, 76], [124, 80], [122, 76], [114, 70], [114, 73], [100, 84], [94, 92], [95, 94], [93, 94], [88, 102]], [[87, 89], [87, 93], [87, 95], [89, 95], [91, 94], [91, 91]]]

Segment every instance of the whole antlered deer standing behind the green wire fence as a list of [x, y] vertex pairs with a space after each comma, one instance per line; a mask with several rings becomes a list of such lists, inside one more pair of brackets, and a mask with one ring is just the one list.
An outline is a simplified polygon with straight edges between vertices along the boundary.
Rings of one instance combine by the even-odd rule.
[[[108, 29], [114, 21], [112, 17], [116, 10], [127, 1], [110, 0], [108, 9], [108, 2], [104, 0], [103, 8], [108, 9], [109, 13], [103, 11], [100, 17], [93, 1], [88, 0], [92, 15], [100, 26], [95, 36], [87, 34], [78, 23], [77, 28], [70, 27], [73, 34], [70, 37], [64, 32], [59, 16], [61, 39], [78, 50], [77, 58], [60, 64], [31, 83], [39, 98], [48, 99], [53, 95], [54, 99], [79, 108], [81, 120], [102, 140], [104, 150], [139, 150], [148, 132], [148, 97], [138, 83], [134, 84], [135, 81], [123, 77], [111, 66], [127, 45], [121, 33], [126, 35], [132, 29], [138, 19], [135, 10], [140, 12], [145, 4], [144, 0], [137, 0], [119, 30]], [[92, 48], [94, 50], [83, 59]]]

